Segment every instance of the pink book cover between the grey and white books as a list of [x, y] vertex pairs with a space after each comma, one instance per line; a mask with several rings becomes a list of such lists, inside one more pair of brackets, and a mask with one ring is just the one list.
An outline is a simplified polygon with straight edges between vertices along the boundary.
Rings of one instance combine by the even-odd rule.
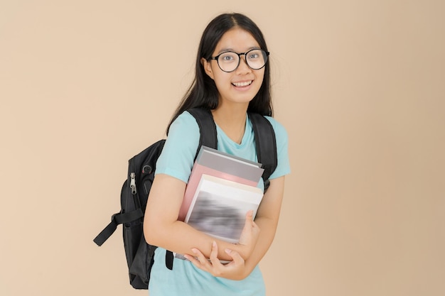
[[235, 175], [230, 175], [225, 172], [221, 172], [219, 170], [214, 170], [212, 168], [208, 168], [204, 165], [200, 165], [195, 162], [193, 165], [193, 169], [188, 180], [188, 184], [186, 187], [186, 192], [184, 193], [183, 203], [181, 205], [181, 209], [179, 209], [178, 220], [184, 221], [187, 216], [188, 208], [193, 200], [193, 195], [195, 194], [196, 188], [198, 187], [199, 181], [201, 179], [201, 175], [211, 175], [214, 177], [220, 177], [225, 180], [230, 180], [234, 182], [238, 182], [245, 185], [257, 186], [258, 182], [254, 182], [252, 180], [247, 180], [242, 177], [238, 177]]

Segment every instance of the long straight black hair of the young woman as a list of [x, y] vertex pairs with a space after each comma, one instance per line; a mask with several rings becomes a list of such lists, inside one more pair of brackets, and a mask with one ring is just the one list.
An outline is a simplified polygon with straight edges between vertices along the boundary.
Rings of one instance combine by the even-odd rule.
[[[213, 18], [205, 28], [200, 40], [198, 55], [195, 64], [195, 79], [193, 80], [188, 91], [184, 95], [181, 103], [175, 111], [171, 123], [183, 112], [191, 108], [202, 107], [205, 109], [215, 109], [218, 106], [218, 89], [215, 82], [205, 74], [204, 67], [201, 64], [201, 58], [210, 60], [216, 45], [223, 37], [224, 33], [232, 28], [242, 28], [252, 34], [253, 38], [259, 44], [259, 48], [267, 50], [264, 36], [258, 26], [247, 16], [241, 13], [223, 13]], [[270, 69], [267, 62], [264, 66], [264, 79], [259, 91], [250, 101], [247, 111], [259, 113], [262, 115], [273, 115], [272, 99], [270, 90]]]

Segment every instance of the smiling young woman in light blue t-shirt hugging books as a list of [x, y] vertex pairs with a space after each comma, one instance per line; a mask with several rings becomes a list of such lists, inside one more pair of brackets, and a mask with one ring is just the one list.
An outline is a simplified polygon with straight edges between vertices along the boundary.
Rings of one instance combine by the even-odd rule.
[[[195, 80], [168, 126], [168, 138], [156, 165], [156, 178], [146, 207], [146, 241], [159, 246], [151, 270], [150, 296], [265, 295], [257, 267], [272, 240], [279, 219], [284, 175], [290, 172], [287, 134], [272, 118], [269, 53], [257, 25], [240, 13], [211, 21], [200, 40]], [[253, 221], [237, 244], [214, 239], [178, 221], [183, 194], [199, 143], [193, 107], [209, 109], [217, 125], [218, 150], [257, 161], [254, 133], [247, 111], [271, 122], [277, 138], [277, 169]], [[263, 187], [263, 182], [259, 182]], [[166, 268], [166, 250], [186, 254]], [[230, 263], [220, 263], [220, 260]]]

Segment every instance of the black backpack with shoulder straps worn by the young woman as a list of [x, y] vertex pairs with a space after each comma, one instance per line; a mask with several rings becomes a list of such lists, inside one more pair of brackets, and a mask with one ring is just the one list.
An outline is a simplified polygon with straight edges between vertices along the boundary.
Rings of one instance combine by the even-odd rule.
[[[200, 146], [217, 149], [216, 126], [209, 110], [190, 109], [200, 128]], [[249, 114], [254, 130], [258, 162], [262, 163], [264, 173], [264, 191], [269, 187], [269, 176], [277, 168], [277, 143], [274, 129], [270, 122], [259, 114]], [[93, 240], [98, 246], [106, 241], [123, 224], [124, 249], [129, 268], [130, 285], [135, 289], [148, 289], [151, 265], [154, 262], [156, 246], [146, 243], [144, 231], [144, 213], [147, 199], [154, 180], [156, 160], [161, 154], [165, 139], [160, 140], [129, 160], [127, 180], [121, 191], [121, 210], [112, 215], [112, 221]], [[173, 253], [167, 251], [166, 266], [173, 268]]]

